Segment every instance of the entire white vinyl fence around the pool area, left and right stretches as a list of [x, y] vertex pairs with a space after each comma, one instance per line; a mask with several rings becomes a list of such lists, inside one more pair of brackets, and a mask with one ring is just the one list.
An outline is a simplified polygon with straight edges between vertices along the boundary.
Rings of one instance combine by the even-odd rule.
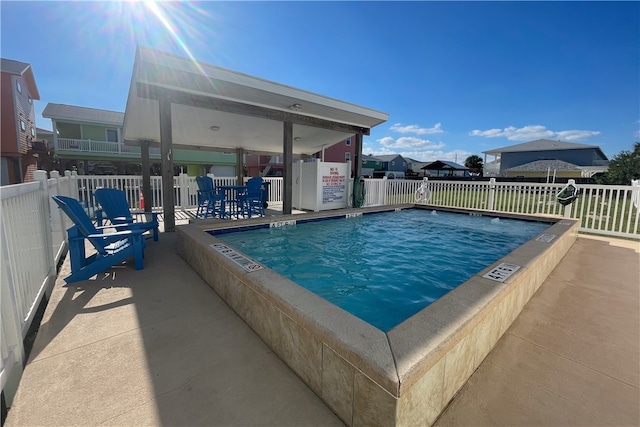
[[[141, 176], [78, 176], [37, 171], [36, 181], [0, 187], [1, 339], [0, 381], [11, 404], [25, 362], [24, 337], [43, 296], [50, 291], [56, 266], [66, 251], [71, 225], [51, 199], [63, 194], [77, 198], [90, 215], [97, 204], [93, 192], [102, 187], [125, 191], [132, 210], [142, 207]], [[235, 185], [235, 177], [213, 177], [216, 185]], [[282, 201], [282, 178], [270, 182], [269, 202]], [[154, 211], [162, 210], [162, 182], [151, 178]], [[629, 186], [577, 185], [580, 197], [568, 206], [555, 195], [563, 185], [469, 181], [365, 179], [365, 206], [421, 203], [489, 213], [522, 213], [580, 219], [581, 231], [640, 238], [640, 183]], [[197, 206], [197, 185], [186, 174], [174, 177], [177, 209]]]

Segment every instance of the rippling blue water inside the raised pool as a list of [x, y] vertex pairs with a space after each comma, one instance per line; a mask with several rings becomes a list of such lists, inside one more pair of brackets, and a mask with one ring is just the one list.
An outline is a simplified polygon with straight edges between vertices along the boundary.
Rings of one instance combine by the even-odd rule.
[[386, 332], [548, 227], [406, 209], [216, 237]]

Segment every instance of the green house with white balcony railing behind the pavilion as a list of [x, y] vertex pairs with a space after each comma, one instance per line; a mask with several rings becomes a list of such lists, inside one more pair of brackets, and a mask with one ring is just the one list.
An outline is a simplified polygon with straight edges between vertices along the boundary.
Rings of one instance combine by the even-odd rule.
[[[47, 104], [42, 116], [51, 119], [53, 149], [59, 168], [81, 174], [141, 173], [140, 147], [122, 139], [124, 113], [65, 104]], [[149, 148], [153, 169], [159, 170], [160, 149]], [[235, 175], [236, 156], [214, 151], [173, 150], [176, 172]], [[218, 169], [218, 170], [217, 170]], [[217, 170], [217, 172], [216, 172]]]

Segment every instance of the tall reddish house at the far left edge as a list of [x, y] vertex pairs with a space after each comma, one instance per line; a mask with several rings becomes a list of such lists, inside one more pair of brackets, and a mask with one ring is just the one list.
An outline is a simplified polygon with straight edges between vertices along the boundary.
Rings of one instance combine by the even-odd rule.
[[0, 63], [0, 184], [19, 184], [32, 181], [38, 169], [33, 102], [40, 93], [30, 64], [4, 58]]

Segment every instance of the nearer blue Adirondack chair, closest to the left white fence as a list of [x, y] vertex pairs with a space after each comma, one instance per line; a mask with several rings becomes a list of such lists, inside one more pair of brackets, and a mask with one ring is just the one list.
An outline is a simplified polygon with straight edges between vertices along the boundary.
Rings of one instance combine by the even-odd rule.
[[[71, 275], [64, 279], [67, 283], [88, 280], [130, 257], [134, 258], [136, 270], [144, 268], [146, 243], [142, 230], [131, 230], [125, 224], [126, 230], [102, 233], [104, 228], [113, 226], [96, 228], [76, 199], [66, 196], [52, 196], [52, 198], [74, 223], [67, 230], [71, 258]], [[85, 240], [88, 240], [97, 251], [88, 257], [85, 253]]]

